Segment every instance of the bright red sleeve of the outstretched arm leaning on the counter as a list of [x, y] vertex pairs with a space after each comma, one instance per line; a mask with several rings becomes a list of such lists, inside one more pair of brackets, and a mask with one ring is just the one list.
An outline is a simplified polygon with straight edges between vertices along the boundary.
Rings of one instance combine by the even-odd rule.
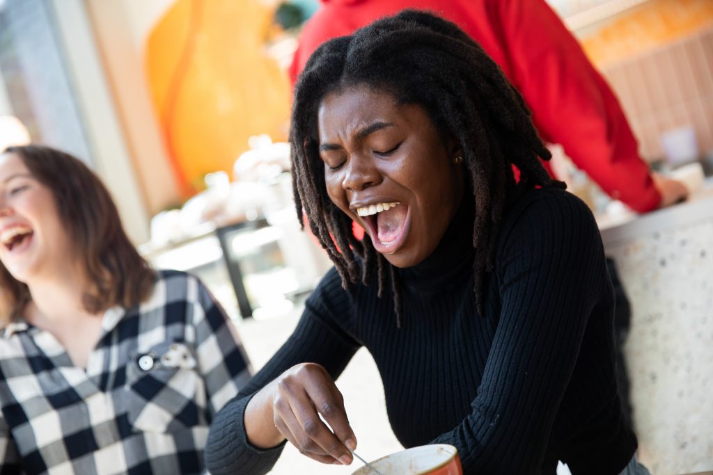
[[543, 140], [561, 144], [610, 196], [637, 212], [661, 197], [605, 80], [543, 0], [498, 0], [513, 83]]

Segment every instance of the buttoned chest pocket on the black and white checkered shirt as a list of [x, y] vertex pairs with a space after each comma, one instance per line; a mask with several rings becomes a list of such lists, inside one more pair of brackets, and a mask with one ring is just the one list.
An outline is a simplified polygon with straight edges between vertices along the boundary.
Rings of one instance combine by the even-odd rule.
[[166, 342], [135, 351], [126, 365], [126, 412], [135, 432], [207, 426], [205, 383], [193, 348]]

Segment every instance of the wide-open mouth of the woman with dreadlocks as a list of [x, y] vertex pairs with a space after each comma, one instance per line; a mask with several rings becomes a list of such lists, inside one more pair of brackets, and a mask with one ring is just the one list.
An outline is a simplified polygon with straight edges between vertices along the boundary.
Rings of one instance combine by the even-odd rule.
[[398, 251], [408, 235], [409, 207], [399, 202], [370, 204], [356, 209], [371, 236], [376, 251], [392, 254]]

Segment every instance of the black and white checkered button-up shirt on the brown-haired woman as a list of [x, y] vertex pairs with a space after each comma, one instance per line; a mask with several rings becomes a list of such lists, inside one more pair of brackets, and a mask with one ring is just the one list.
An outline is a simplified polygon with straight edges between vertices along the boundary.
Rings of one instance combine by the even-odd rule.
[[103, 315], [86, 370], [24, 322], [0, 330], [0, 474], [193, 474], [210, 421], [250, 378], [235, 328], [197, 278], [157, 273]]

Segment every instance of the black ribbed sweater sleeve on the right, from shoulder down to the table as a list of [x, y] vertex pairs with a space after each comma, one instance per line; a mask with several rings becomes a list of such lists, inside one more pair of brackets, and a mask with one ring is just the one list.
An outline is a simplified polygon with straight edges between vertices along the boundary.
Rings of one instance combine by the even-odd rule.
[[466, 474], [539, 474], [588, 318], [607, 285], [589, 209], [559, 190], [531, 194], [503, 226], [498, 327], [472, 412], [433, 442]]

